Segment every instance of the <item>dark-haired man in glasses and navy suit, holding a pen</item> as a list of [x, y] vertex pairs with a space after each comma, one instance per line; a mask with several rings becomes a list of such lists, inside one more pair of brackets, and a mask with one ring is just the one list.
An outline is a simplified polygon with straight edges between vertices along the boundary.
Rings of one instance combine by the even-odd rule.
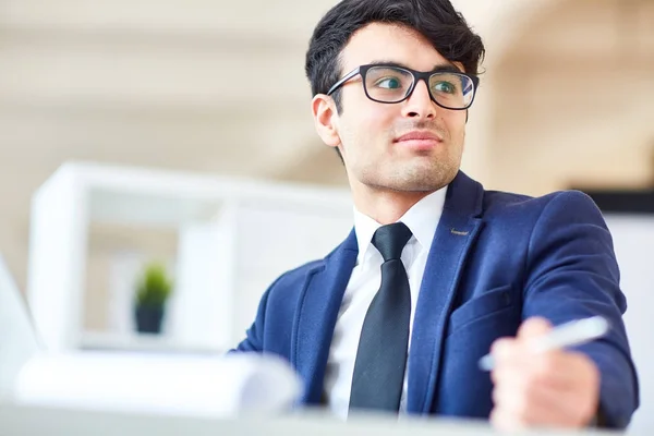
[[[638, 383], [600, 211], [579, 192], [491, 192], [459, 170], [483, 53], [447, 0], [343, 0], [323, 17], [306, 56], [312, 110], [344, 164], [354, 229], [271, 284], [238, 350], [288, 359], [302, 403], [343, 416], [625, 427]], [[611, 326], [602, 339], [531, 348], [594, 315]]]

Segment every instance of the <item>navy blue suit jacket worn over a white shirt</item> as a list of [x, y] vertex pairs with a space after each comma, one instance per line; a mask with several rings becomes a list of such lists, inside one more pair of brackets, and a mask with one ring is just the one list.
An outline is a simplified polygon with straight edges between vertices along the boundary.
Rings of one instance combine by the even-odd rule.
[[[319, 404], [334, 328], [356, 261], [354, 231], [325, 258], [280, 276], [265, 292], [239, 351], [281, 355]], [[580, 347], [602, 376], [606, 424], [625, 427], [638, 380], [621, 315], [626, 301], [611, 237], [595, 204], [574, 191], [532, 198], [485, 191], [459, 172], [450, 183], [416, 305], [408, 361], [408, 412], [487, 417], [488, 373], [477, 367], [521, 322], [603, 315], [611, 330]]]

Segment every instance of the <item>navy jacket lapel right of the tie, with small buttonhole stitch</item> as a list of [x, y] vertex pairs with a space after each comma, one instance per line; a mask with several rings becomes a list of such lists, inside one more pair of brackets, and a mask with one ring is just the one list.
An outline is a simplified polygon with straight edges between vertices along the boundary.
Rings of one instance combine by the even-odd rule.
[[467, 254], [476, 239], [483, 187], [459, 172], [450, 183], [421, 284], [409, 352], [409, 413], [428, 413], [440, 366], [445, 326]]

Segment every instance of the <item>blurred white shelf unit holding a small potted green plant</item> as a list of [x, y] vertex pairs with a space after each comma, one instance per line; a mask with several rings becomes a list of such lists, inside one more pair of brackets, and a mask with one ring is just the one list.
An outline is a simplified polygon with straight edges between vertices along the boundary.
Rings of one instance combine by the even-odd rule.
[[[132, 295], [124, 292], [113, 304], [123, 327], [85, 331], [88, 229], [96, 222], [177, 232], [165, 336], [129, 328]], [[27, 299], [51, 351], [222, 352], [244, 337], [279, 274], [324, 257], [351, 227], [347, 190], [69, 162], [33, 197]]]

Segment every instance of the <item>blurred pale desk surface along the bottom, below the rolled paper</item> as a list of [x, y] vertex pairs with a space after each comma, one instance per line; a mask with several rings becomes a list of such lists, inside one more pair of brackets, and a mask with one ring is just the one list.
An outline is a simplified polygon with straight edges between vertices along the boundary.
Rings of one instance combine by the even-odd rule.
[[[347, 423], [318, 412], [284, 417], [206, 419], [157, 416], [114, 412], [57, 410], [0, 403], [2, 436], [479, 436], [495, 435], [479, 422], [359, 416]], [[609, 432], [531, 431], [520, 435], [564, 436], [615, 434]]]

